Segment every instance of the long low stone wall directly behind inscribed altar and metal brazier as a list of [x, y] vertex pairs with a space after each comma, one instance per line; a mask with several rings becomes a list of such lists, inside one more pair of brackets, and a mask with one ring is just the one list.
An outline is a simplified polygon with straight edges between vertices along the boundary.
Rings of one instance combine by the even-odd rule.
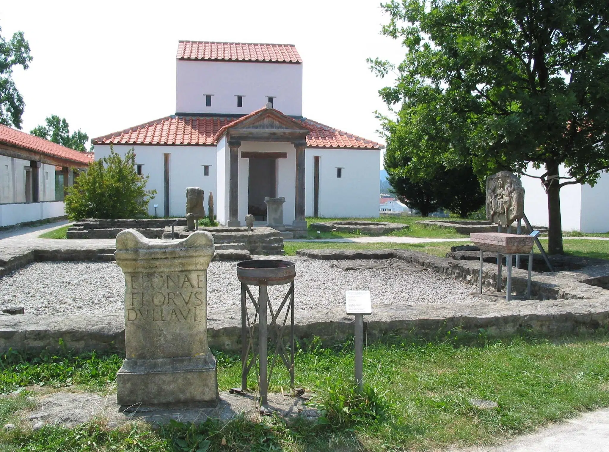
[[[213, 350], [241, 350], [238, 313], [208, 312], [208, 341]], [[108, 315], [0, 315], [0, 352], [38, 353], [63, 347], [76, 352], [125, 350], [123, 313]], [[598, 300], [487, 302], [455, 305], [373, 305], [364, 317], [368, 342], [386, 335], [433, 339], [449, 330], [491, 338], [529, 335], [577, 335], [609, 326], [609, 297]], [[295, 337], [318, 337], [326, 346], [353, 336], [353, 316], [343, 307], [297, 314]]]

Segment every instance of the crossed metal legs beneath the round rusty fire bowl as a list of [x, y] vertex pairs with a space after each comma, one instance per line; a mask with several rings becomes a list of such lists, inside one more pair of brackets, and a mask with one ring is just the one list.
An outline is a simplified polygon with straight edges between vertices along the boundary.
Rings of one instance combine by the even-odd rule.
[[[243, 282], [241, 283], [241, 391], [247, 391], [247, 375], [252, 367], [255, 366], [256, 360], [258, 360], [258, 387], [261, 406], [268, 404], [269, 382], [273, 375], [277, 356], [281, 358], [290, 374], [290, 388], [294, 388], [294, 281], [290, 282], [290, 288], [276, 311], [273, 311], [267, 288], [266, 283], [261, 282], [259, 284], [258, 300], [256, 300], [248, 285]], [[250, 321], [247, 308], [247, 297], [250, 298], [255, 308], [252, 321]], [[285, 315], [280, 326], [277, 319], [282, 311], [285, 312]], [[270, 323], [268, 322], [267, 313], [270, 313]], [[289, 360], [286, 356], [287, 350], [283, 342], [288, 316], [290, 317]], [[256, 319], [258, 319], [258, 335], [255, 334]], [[269, 329], [271, 339], [275, 342], [275, 350], [270, 360], [270, 367], [268, 365]], [[255, 344], [256, 336], [258, 336], [257, 344]], [[252, 353], [251, 358], [250, 352]]]

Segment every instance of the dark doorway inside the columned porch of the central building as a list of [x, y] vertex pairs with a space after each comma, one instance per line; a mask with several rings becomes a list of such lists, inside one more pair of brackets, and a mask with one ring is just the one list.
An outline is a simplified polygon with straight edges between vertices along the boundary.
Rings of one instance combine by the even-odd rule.
[[254, 215], [256, 221], [266, 221], [264, 197], [276, 197], [277, 160], [250, 158], [249, 161], [247, 213]]

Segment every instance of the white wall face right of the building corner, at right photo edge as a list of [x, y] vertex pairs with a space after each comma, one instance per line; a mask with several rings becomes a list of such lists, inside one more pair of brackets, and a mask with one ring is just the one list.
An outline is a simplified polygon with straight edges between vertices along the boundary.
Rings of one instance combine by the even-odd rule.
[[[562, 191], [562, 190], [561, 190]], [[600, 173], [594, 187], [582, 186], [582, 232], [609, 231], [609, 174]]]

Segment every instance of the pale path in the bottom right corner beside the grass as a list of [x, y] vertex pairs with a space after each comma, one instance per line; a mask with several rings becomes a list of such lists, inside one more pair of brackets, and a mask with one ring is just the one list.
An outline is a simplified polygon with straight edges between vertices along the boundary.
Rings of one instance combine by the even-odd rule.
[[582, 414], [574, 419], [539, 429], [495, 447], [461, 449], [453, 452], [607, 452], [609, 451], [609, 409]]

